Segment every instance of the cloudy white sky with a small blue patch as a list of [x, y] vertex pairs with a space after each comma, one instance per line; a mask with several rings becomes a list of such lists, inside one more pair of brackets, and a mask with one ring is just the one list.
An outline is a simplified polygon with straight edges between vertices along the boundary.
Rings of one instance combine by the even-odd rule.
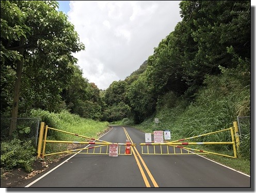
[[138, 69], [182, 20], [180, 1], [58, 2], [85, 44], [77, 64], [102, 90]]

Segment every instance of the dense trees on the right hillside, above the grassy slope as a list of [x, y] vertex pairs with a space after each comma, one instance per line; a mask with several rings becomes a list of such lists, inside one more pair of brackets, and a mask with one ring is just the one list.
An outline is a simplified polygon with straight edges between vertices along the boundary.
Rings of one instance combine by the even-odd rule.
[[190, 104], [215, 85], [219, 97], [246, 93], [238, 93], [232, 105], [239, 108], [229, 116], [250, 115], [250, 1], [182, 1], [180, 8], [183, 20], [138, 71], [109, 86], [105, 100], [120, 98], [139, 124], [166, 106], [167, 96]]

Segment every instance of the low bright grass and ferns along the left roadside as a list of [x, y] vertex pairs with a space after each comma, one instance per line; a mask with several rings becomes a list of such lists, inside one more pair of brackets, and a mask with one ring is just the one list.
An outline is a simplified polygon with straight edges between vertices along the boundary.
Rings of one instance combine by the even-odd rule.
[[[79, 115], [71, 114], [67, 111], [60, 113], [50, 113], [43, 110], [32, 110], [32, 117], [41, 117], [41, 120], [46, 125], [54, 129], [67, 131], [87, 137], [97, 138], [101, 133], [108, 129], [108, 122], [100, 122], [92, 119], [85, 119]], [[88, 141], [86, 138], [70, 135], [54, 130], [49, 130], [47, 133], [47, 140], [61, 140], [61, 141]], [[73, 146], [69, 144], [46, 144], [46, 153], [55, 153], [72, 149]], [[33, 170], [33, 163], [36, 161], [37, 149], [31, 141], [20, 140], [18, 137], [10, 141], [1, 142], [1, 176], [2, 173], [10, 171], [14, 168], [23, 168], [30, 172]], [[57, 159], [59, 155], [45, 157], [46, 162], [51, 162]]]

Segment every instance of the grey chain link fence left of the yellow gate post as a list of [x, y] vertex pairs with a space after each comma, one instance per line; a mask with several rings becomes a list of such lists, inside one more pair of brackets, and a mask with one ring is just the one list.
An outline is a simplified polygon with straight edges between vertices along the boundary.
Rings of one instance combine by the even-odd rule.
[[[10, 136], [11, 122], [16, 122], [15, 130]], [[31, 139], [37, 147], [38, 131], [40, 127], [40, 117], [38, 118], [2, 118], [1, 117], [1, 142], [10, 138], [17, 137], [19, 139]]]

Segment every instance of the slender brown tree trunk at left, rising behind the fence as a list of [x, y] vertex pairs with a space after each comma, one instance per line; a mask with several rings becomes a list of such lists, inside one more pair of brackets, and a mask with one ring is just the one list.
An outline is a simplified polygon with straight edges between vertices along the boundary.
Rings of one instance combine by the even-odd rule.
[[[23, 46], [25, 42], [25, 38], [21, 37], [20, 46]], [[19, 49], [20, 55], [23, 56], [24, 48]], [[16, 129], [17, 125], [17, 117], [18, 117], [18, 107], [19, 107], [19, 98], [20, 98], [20, 89], [21, 89], [21, 75], [22, 75], [22, 65], [23, 65], [23, 58], [17, 63], [16, 69], [16, 80], [15, 80], [15, 87], [14, 87], [14, 96], [13, 96], [13, 103], [12, 103], [12, 111], [11, 111], [11, 124], [10, 124], [10, 131], [9, 136], [12, 136], [12, 132]]]

